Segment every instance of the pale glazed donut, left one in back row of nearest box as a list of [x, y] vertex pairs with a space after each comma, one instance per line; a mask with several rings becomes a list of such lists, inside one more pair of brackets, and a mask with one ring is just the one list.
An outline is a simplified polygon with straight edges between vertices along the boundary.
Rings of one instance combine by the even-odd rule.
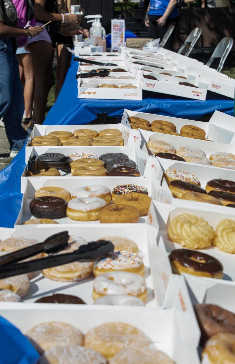
[[44, 322], [26, 333], [27, 339], [39, 354], [46, 350], [68, 345], [82, 345], [83, 334], [76, 327], [64, 322]]

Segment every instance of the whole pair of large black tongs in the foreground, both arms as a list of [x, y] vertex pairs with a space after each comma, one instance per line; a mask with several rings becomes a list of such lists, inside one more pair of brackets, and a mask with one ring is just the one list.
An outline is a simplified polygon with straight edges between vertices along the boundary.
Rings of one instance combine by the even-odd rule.
[[91, 241], [86, 245], [81, 245], [78, 250], [75, 250], [72, 253], [52, 255], [45, 258], [16, 263], [19, 260], [21, 261], [42, 252], [50, 254], [63, 250], [68, 245], [68, 238], [67, 231], [58, 233], [47, 238], [42, 243], [0, 257], [0, 279], [52, 268], [75, 261], [91, 262], [102, 260], [105, 257], [110, 257], [114, 251], [114, 245], [111, 241], [99, 240]]

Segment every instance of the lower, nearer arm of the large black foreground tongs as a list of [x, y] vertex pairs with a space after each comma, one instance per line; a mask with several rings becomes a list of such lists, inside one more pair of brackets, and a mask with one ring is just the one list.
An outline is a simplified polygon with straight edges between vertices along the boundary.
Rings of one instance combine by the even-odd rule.
[[[91, 241], [86, 245], [81, 245], [78, 250], [75, 250], [72, 253], [52, 255], [46, 258], [30, 260], [17, 264], [1, 265], [0, 279], [18, 276], [19, 274], [31, 273], [37, 270], [52, 268], [63, 264], [73, 263], [76, 261], [92, 262], [102, 260], [103, 258], [110, 257], [113, 254], [113, 251], [114, 245], [109, 240], [99, 240], [98, 242]], [[7, 257], [9, 255], [10, 254], [7, 254], [4, 257]]]

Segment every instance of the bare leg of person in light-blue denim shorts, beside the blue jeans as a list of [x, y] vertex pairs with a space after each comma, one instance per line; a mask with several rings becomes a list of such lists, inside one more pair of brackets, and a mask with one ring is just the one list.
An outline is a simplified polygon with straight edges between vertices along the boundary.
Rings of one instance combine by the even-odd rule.
[[31, 119], [33, 102], [34, 102], [34, 71], [32, 66], [32, 58], [30, 53], [21, 55], [21, 60], [24, 69], [24, 107], [26, 119]]

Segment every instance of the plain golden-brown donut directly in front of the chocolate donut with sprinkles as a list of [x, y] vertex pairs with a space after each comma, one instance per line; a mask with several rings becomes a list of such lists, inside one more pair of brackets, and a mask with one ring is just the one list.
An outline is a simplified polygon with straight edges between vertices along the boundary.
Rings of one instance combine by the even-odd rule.
[[140, 216], [148, 215], [151, 198], [143, 193], [130, 192], [117, 196], [114, 201], [118, 205], [134, 206], [140, 213]]

